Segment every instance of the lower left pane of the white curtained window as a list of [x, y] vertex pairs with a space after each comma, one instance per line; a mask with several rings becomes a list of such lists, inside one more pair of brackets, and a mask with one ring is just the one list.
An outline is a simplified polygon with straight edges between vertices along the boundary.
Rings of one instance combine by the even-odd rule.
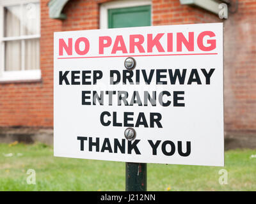
[[5, 71], [19, 71], [21, 69], [21, 41], [6, 41], [4, 45]]

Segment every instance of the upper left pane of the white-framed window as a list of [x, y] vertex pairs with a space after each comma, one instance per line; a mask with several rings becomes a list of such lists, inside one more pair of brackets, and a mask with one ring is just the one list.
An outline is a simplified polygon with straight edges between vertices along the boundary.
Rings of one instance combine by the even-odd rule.
[[4, 7], [4, 37], [20, 36], [20, 6]]

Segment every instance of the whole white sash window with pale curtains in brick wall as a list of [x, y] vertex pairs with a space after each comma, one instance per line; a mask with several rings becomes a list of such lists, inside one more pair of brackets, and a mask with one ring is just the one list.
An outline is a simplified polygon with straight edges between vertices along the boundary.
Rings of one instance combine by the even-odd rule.
[[0, 0], [0, 20], [0, 82], [40, 79], [40, 1]]

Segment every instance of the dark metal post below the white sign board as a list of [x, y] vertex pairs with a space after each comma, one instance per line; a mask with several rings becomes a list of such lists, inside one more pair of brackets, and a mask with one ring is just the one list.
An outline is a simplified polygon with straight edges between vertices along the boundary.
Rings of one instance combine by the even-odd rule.
[[125, 190], [147, 191], [147, 163], [125, 163]]

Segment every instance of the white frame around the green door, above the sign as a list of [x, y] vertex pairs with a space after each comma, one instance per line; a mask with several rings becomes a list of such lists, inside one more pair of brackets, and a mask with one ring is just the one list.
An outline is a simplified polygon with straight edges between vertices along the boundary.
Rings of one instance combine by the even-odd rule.
[[108, 10], [112, 8], [125, 8], [135, 6], [151, 6], [151, 19], [152, 25], [152, 1], [151, 0], [119, 0], [110, 1], [100, 4], [100, 29], [108, 28]]

